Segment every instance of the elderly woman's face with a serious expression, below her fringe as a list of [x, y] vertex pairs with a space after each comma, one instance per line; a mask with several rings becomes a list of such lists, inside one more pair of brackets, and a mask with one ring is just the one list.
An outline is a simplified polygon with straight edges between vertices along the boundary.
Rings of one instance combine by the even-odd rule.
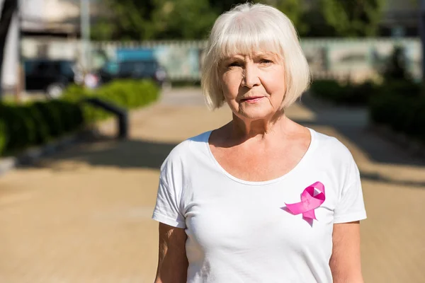
[[243, 120], [272, 117], [285, 96], [283, 60], [272, 53], [235, 54], [220, 63], [225, 100]]

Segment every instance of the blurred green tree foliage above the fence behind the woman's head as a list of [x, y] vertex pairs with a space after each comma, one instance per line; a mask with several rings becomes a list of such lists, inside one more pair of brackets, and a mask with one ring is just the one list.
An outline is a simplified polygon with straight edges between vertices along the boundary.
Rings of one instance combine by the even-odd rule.
[[[92, 25], [94, 40], [201, 40], [215, 19], [242, 0], [105, 0], [108, 16]], [[384, 0], [253, 0], [274, 6], [302, 36], [375, 35]]]

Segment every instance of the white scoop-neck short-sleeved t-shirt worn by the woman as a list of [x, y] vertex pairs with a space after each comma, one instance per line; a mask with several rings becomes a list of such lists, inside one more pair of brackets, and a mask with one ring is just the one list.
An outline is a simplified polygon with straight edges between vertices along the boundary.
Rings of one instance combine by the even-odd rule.
[[[210, 132], [171, 151], [152, 218], [186, 230], [187, 282], [332, 282], [333, 224], [365, 219], [366, 213], [350, 151], [334, 137], [310, 132], [300, 163], [264, 182], [227, 173], [210, 151]], [[316, 182], [326, 197], [314, 209], [317, 220], [284, 209]]]

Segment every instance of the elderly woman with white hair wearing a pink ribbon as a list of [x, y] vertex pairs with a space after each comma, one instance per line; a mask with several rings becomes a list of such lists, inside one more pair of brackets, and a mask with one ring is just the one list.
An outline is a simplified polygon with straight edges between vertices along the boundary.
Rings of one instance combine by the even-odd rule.
[[156, 282], [363, 282], [356, 163], [334, 137], [285, 116], [309, 80], [276, 8], [242, 4], [217, 18], [203, 92], [232, 120], [162, 165]]

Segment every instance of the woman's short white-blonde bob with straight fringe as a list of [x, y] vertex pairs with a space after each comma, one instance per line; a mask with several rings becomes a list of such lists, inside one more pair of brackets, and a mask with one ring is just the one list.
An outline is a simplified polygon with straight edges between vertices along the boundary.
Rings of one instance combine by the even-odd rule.
[[300, 98], [310, 84], [310, 69], [293, 23], [284, 13], [264, 4], [240, 4], [215, 21], [205, 50], [201, 84], [210, 110], [225, 102], [219, 64], [232, 54], [273, 52], [283, 59], [286, 92], [281, 109]]

